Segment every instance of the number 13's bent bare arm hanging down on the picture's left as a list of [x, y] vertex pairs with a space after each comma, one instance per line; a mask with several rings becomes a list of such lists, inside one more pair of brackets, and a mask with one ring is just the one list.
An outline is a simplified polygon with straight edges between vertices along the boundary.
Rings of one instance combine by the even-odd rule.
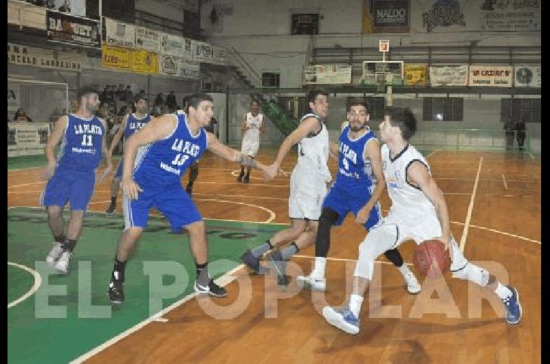
[[142, 192], [140, 186], [132, 179], [137, 148], [168, 137], [168, 135], [173, 133], [176, 124], [177, 120], [174, 114], [154, 117], [151, 122], [148, 122], [140, 129], [140, 133], [134, 133], [126, 140], [122, 161], [122, 191], [126, 196], [135, 199], [139, 192]]

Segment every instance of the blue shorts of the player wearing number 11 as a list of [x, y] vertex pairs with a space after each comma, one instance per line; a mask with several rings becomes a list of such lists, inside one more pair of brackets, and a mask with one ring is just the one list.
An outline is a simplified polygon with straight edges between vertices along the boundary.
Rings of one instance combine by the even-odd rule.
[[86, 211], [95, 184], [95, 170], [78, 172], [57, 168], [42, 192], [41, 205], [64, 207], [69, 201], [72, 210]]

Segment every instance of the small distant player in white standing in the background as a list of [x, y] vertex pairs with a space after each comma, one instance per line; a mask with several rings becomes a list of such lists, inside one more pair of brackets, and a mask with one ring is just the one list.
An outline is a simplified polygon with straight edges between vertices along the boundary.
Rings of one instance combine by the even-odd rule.
[[[243, 117], [241, 130], [243, 131], [243, 144], [241, 145], [241, 153], [252, 159], [256, 158], [258, 149], [260, 148], [260, 133], [265, 131], [265, 123], [263, 122], [263, 114], [259, 112], [260, 102], [252, 100], [250, 102], [250, 111]], [[250, 166], [241, 166], [241, 173], [236, 178], [238, 182], [250, 182]]]

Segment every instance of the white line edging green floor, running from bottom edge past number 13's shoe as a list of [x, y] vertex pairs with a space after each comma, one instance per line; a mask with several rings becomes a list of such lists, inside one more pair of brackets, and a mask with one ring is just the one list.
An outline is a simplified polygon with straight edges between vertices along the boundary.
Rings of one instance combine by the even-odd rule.
[[[216, 284], [218, 284], [221, 287], [227, 286], [228, 284], [230, 284], [230, 282], [233, 282], [236, 279], [236, 277], [233, 274], [236, 271], [239, 271], [243, 268], [244, 268], [244, 264], [239, 264], [238, 266], [236, 266], [235, 269], [232, 269], [231, 271], [228, 271], [228, 273], [225, 273], [224, 275], [219, 277], [217, 280], [214, 280], [214, 282], [216, 282]], [[94, 356], [94, 355], [98, 354], [99, 352], [102, 352], [103, 350], [109, 348], [109, 346], [113, 345], [114, 343], [117, 343], [118, 341], [124, 339], [125, 337], [128, 337], [129, 335], [133, 334], [133, 332], [136, 332], [137, 330], [140, 330], [141, 328], [143, 328], [144, 326], [147, 326], [149, 323], [151, 323], [153, 321], [157, 321], [159, 319], [161, 319], [160, 321], [164, 321], [165, 319], [162, 316], [166, 315], [168, 312], [170, 312], [174, 308], [177, 308], [177, 306], [181, 306], [185, 302], [188, 302], [190, 299], [195, 298], [197, 295], [198, 294], [196, 292], [191, 293], [190, 295], [186, 295], [185, 297], [181, 298], [178, 302], [174, 302], [170, 306], [164, 308], [164, 310], [160, 310], [159, 312], [155, 313], [151, 317], [148, 317], [148, 319], [145, 319], [144, 321], [141, 321], [140, 323], [137, 323], [137, 325], [132, 326], [128, 330], [118, 334], [117, 336], [113, 337], [113, 339], [110, 339], [109, 341], [105, 341], [104, 343], [102, 343], [98, 347], [90, 350], [89, 352], [87, 352], [87, 353], [85, 353], [81, 356], [78, 356], [78, 358], [70, 361], [69, 364], [82, 363], [83, 361], [86, 361], [86, 360], [90, 359], [92, 356]]]

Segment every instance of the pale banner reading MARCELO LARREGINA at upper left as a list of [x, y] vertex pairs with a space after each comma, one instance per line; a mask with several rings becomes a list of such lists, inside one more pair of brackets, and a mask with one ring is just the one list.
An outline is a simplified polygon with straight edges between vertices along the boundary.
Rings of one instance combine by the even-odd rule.
[[71, 52], [54, 54], [50, 49], [8, 43], [8, 64], [80, 71], [80, 62], [83, 60], [85, 56], [81, 54]]

